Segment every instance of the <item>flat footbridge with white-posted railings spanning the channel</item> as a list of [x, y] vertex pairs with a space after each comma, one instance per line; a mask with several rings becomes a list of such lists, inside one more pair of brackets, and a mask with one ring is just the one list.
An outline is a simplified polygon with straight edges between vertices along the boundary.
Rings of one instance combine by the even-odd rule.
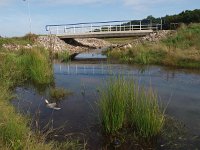
[[160, 24], [151, 20], [123, 20], [46, 25], [46, 31], [60, 39], [145, 36], [158, 29], [162, 29], [162, 20]]

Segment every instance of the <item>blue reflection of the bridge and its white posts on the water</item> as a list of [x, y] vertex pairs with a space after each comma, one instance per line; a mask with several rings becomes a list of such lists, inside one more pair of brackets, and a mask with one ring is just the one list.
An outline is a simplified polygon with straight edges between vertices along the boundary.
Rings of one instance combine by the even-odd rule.
[[[128, 66], [119, 64], [55, 64], [55, 74], [83, 75], [83, 76], [138, 76], [143, 73], [141, 68], [130, 69]], [[149, 75], [149, 74], [148, 74]]]

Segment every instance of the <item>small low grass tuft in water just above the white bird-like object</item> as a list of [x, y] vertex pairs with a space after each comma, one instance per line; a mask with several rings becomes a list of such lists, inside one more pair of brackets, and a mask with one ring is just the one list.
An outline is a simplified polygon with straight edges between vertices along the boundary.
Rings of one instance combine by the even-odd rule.
[[50, 97], [51, 99], [54, 100], [62, 100], [63, 98], [65, 98], [68, 95], [71, 95], [72, 92], [64, 89], [64, 88], [51, 88], [50, 89]]

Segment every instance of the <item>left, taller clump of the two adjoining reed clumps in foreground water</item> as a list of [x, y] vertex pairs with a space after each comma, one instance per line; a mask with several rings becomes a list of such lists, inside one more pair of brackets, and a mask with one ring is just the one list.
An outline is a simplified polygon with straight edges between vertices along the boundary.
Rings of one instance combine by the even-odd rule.
[[122, 128], [125, 120], [127, 85], [121, 77], [111, 79], [107, 88], [101, 92], [99, 107], [101, 122], [107, 134], [115, 134]]

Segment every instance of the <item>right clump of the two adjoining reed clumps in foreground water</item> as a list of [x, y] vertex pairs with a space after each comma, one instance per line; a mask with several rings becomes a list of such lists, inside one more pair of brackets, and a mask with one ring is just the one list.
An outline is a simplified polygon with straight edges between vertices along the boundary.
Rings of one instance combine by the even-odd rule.
[[157, 94], [150, 88], [141, 88], [132, 108], [131, 122], [140, 137], [149, 139], [161, 132], [164, 111], [160, 110]]

